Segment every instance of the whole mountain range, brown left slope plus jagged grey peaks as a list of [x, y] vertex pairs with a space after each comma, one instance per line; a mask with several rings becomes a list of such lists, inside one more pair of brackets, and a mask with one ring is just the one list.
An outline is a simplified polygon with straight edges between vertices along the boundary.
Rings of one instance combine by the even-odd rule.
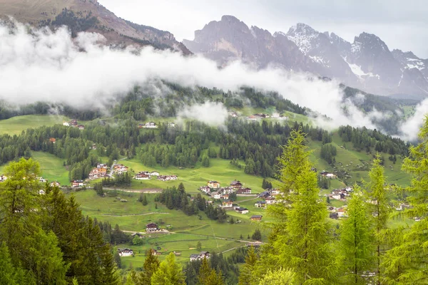
[[195, 31], [193, 41], [175, 40], [172, 33], [121, 19], [98, 0], [0, 0], [0, 17], [33, 26], [66, 25], [73, 36], [80, 31], [101, 33], [111, 46], [154, 46], [202, 54], [226, 66], [240, 60], [255, 68], [281, 67], [307, 72], [394, 98], [428, 96], [428, 59], [411, 51], [390, 51], [378, 36], [361, 33], [353, 43], [335, 33], [319, 32], [306, 24], [287, 33], [248, 27], [235, 16], [223, 16]]

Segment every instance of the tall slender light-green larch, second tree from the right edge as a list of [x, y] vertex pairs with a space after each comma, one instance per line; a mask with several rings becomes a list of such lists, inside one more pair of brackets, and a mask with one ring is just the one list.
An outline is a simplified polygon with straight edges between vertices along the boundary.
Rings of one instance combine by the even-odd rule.
[[387, 221], [391, 212], [387, 197], [387, 188], [385, 186], [384, 167], [381, 165], [380, 155], [376, 155], [376, 158], [373, 160], [369, 177], [370, 182], [367, 187], [370, 199], [374, 202], [372, 212], [374, 213], [374, 245], [376, 247], [376, 283], [380, 285], [382, 283], [382, 256], [387, 246], [384, 241], [384, 232], [387, 229]]

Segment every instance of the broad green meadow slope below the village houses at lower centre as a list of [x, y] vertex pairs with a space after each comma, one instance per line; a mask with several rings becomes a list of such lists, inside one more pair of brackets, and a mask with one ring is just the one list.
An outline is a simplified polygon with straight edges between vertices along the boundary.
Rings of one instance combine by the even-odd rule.
[[[187, 216], [181, 211], [167, 209], [163, 204], [158, 203], [156, 209], [153, 201], [155, 195], [147, 195], [148, 205], [143, 206], [137, 201], [136, 193], [121, 193], [121, 199], [128, 202], [119, 202], [116, 197], [98, 197], [93, 190], [74, 192], [77, 201], [81, 204], [83, 214], [95, 217], [98, 221], [108, 221], [111, 224], [120, 224], [121, 229], [136, 232], [145, 232], [148, 222], [156, 222], [161, 227], [170, 225], [171, 234], [150, 234], [144, 240], [143, 246], [130, 246], [129, 244], [118, 245], [118, 247], [131, 247], [136, 252], [136, 257], [123, 257], [126, 266], [141, 266], [144, 261], [146, 249], [161, 247], [163, 259], [168, 252], [181, 252], [178, 260], [187, 262], [190, 254], [197, 253], [195, 249], [198, 241], [202, 243], [202, 249], [210, 252], [223, 252], [227, 249], [239, 247], [242, 243], [227, 240], [240, 239], [242, 234], [244, 239], [248, 234], [253, 234], [258, 223], [250, 222], [248, 217], [241, 215], [240, 224], [230, 225], [228, 223], [219, 224], [211, 221], [203, 212], [200, 212], [202, 219], [198, 216]], [[233, 214], [235, 212], [229, 212]], [[223, 237], [226, 239], [215, 239]]]

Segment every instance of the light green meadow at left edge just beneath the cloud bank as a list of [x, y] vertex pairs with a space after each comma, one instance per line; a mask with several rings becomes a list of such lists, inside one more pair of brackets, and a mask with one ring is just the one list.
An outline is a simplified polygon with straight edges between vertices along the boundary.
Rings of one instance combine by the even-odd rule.
[[23, 130], [28, 128], [62, 124], [64, 120], [69, 119], [61, 115], [24, 115], [0, 120], [0, 135], [19, 135]]

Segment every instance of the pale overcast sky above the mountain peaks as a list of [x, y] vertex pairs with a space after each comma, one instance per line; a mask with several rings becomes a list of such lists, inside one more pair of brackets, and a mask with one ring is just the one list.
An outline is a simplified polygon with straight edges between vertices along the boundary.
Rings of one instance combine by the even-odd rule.
[[[287, 32], [296, 23], [317, 31], [334, 31], [353, 41], [362, 31], [374, 33], [389, 49], [413, 51], [428, 58], [426, 0], [98, 0], [117, 16], [170, 31], [178, 41], [223, 15], [271, 33]], [[174, 2], [174, 3], [171, 3]]]

